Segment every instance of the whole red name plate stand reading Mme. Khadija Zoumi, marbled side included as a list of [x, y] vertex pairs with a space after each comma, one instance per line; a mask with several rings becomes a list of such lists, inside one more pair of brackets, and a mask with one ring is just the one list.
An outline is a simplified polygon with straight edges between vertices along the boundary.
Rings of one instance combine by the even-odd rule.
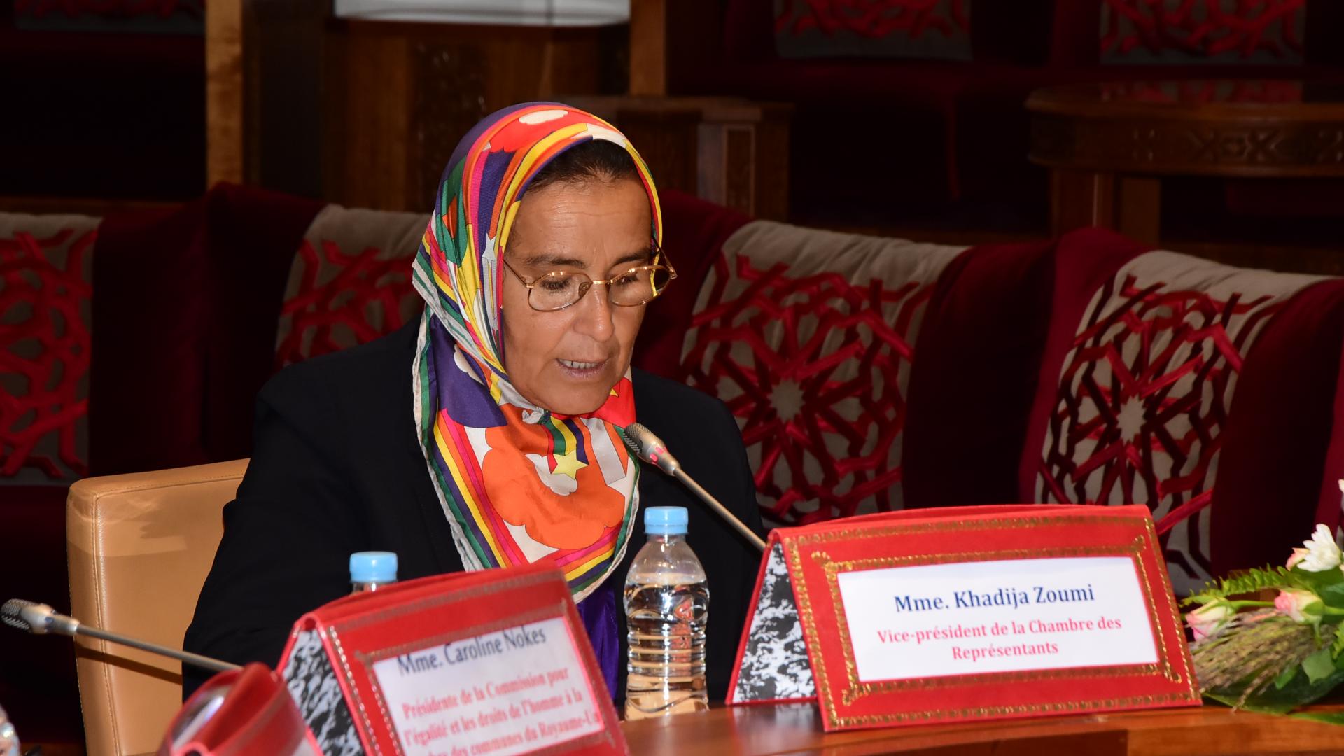
[[780, 529], [730, 704], [827, 730], [1199, 705], [1146, 507], [1004, 504]]

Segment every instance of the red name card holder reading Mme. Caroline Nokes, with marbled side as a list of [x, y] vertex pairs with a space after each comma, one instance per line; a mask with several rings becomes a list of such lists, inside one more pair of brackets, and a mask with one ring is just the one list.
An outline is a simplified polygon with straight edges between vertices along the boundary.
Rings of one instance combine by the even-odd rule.
[[536, 564], [339, 599], [281, 671], [327, 756], [626, 753], [563, 574]]

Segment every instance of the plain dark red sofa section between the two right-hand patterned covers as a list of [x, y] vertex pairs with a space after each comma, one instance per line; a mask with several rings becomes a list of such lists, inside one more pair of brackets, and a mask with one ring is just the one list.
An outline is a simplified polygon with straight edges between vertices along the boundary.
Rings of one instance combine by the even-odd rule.
[[982, 245], [938, 278], [910, 374], [907, 507], [1016, 502], [1055, 242]]

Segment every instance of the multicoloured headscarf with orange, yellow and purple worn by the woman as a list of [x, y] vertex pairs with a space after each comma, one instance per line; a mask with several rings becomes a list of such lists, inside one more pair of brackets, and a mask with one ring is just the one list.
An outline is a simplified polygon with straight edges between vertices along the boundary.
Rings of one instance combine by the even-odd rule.
[[439, 503], [468, 570], [554, 560], [575, 601], [616, 569], [638, 510], [626, 374], [606, 404], [559, 416], [528, 402], [504, 367], [503, 261], [528, 182], [594, 139], [624, 147], [661, 213], [644, 160], [610, 124], [556, 102], [500, 110], [468, 133], [438, 186], [415, 256], [427, 304], [414, 363], [415, 422]]

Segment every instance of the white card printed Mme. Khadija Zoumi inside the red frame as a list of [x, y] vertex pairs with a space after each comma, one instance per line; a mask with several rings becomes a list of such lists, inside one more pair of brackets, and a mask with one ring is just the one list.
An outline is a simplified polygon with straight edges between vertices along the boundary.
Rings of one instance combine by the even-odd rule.
[[1157, 663], [1126, 557], [837, 572], [859, 682]]

